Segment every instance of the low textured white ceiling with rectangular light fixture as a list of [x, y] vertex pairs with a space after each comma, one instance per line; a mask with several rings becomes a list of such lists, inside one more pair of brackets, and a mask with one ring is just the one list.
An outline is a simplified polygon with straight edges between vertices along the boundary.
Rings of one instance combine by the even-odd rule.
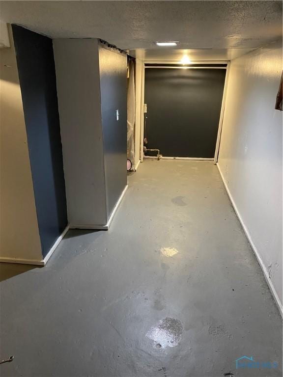
[[[192, 60], [229, 60], [282, 36], [281, 1], [0, 1], [0, 15], [52, 38], [142, 49], [132, 53], [150, 60], [177, 59], [182, 49]], [[178, 50], [156, 49], [167, 40]]]

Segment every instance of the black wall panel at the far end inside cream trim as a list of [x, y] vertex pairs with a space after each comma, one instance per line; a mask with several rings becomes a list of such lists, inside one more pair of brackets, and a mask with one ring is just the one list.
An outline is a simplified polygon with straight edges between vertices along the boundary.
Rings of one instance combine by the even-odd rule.
[[226, 69], [146, 68], [148, 148], [163, 156], [213, 158]]

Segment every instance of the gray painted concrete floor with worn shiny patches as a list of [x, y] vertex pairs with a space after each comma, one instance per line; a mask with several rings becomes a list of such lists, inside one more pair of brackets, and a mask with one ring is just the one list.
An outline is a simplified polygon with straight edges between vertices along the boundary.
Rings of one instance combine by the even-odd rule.
[[1, 277], [1, 376], [282, 375], [281, 317], [212, 162], [144, 162], [108, 232]]

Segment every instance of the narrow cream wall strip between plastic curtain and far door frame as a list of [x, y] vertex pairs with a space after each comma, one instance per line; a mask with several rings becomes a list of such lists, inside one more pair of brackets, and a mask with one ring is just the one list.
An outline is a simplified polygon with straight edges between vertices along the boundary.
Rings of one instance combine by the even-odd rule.
[[136, 119], [135, 119], [135, 162], [136, 167], [139, 166], [139, 161], [141, 160], [141, 127], [143, 127], [142, 122], [142, 80], [143, 80], [143, 68], [144, 64], [142, 60], [136, 59]]

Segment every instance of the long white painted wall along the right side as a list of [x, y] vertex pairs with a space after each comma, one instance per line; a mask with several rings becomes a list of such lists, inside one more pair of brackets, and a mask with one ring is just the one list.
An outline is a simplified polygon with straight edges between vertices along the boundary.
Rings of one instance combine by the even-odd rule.
[[218, 165], [282, 304], [281, 73], [282, 41], [231, 61]]

